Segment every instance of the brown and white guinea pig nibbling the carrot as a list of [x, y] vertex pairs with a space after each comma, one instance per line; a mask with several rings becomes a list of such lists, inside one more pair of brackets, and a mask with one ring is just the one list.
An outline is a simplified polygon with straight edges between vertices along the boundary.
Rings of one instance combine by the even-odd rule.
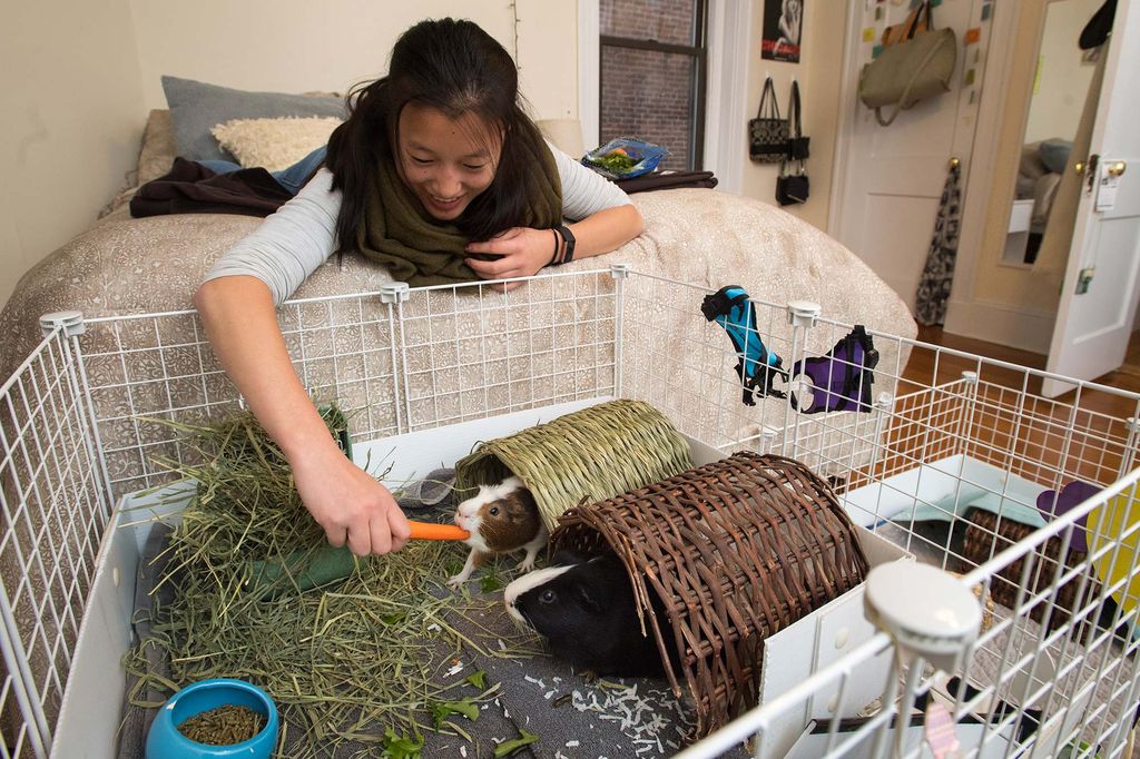
[[479, 492], [455, 511], [455, 523], [471, 533], [464, 540], [471, 546], [471, 553], [463, 571], [448, 580], [451, 586], [465, 582], [495, 554], [526, 550], [527, 555], [519, 566], [524, 572], [530, 571], [535, 569], [535, 557], [549, 537], [535, 497], [515, 476], [496, 485], [479, 485]]

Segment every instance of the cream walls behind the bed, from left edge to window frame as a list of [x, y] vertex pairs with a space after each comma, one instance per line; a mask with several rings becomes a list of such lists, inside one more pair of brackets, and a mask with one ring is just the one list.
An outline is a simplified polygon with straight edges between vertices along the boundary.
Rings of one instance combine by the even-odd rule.
[[124, 186], [147, 111], [165, 107], [162, 74], [342, 91], [382, 74], [405, 28], [441, 16], [477, 22], [515, 56], [536, 117], [577, 116], [576, 0], [6, 3], [0, 304]]

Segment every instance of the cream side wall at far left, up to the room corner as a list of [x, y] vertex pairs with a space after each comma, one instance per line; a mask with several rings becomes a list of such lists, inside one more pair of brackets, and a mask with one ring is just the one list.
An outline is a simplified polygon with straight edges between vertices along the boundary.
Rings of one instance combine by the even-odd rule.
[[123, 186], [142, 131], [130, 0], [5, 3], [0, 304]]

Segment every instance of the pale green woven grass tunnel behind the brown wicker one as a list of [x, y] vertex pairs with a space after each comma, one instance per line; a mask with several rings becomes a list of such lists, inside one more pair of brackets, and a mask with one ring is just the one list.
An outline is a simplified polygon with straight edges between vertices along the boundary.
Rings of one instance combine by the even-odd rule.
[[514, 474], [554, 530], [572, 506], [612, 498], [692, 467], [689, 443], [642, 401], [613, 400], [479, 444], [455, 465], [461, 498]]

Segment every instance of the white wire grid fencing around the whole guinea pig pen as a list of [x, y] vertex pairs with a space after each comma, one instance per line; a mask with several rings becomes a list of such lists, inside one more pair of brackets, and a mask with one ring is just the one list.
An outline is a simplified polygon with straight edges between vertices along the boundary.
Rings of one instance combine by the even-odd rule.
[[[950, 713], [960, 756], [1122, 756], [1140, 699], [1140, 397], [1073, 381], [1069, 397], [1047, 400], [1028, 392], [1035, 370], [925, 345], [826, 303], [754, 300], [757, 336], [784, 367], [824, 356], [856, 321], [879, 360], [865, 411], [804, 415], [775, 397], [747, 407], [739, 356], [700, 313], [711, 289], [614, 267], [510, 293], [392, 286], [288, 303], [280, 319], [314, 395], [355, 411], [360, 442], [401, 442], [393, 480], [467, 455], [462, 425], [489, 439], [514, 431], [515, 415], [534, 424], [638, 399], [722, 457], [780, 455], [832, 483], [871, 554], [883, 552], [872, 564], [902, 550], [959, 572], [951, 590], [995, 601], [987, 629], [958, 635], [889, 607], [872, 622], [860, 586], [854, 605], [766, 640], [795, 653], [765, 664], [759, 705], [683, 756], [746, 738], [759, 757], [919, 756], [931, 703]], [[190, 312], [49, 315], [43, 329], [0, 386], [0, 756], [83, 745], [109, 757], [139, 552], [116, 506], [166, 483], [155, 456], [192, 455], [139, 419], [201, 419], [241, 402]], [[925, 369], [907, 370], [914, 352], [930, 359]], [[1100, 413], [1094, 395], [1133, 410]], [[1093, 495], [1051, 507], [1074, 481]], [[1000, 519], [968, 517], [979, 509]], [[1007, 521], [1028, 532], [1010, 537]], [[1078, 537], [1086, 550], [1070, 553]]]

